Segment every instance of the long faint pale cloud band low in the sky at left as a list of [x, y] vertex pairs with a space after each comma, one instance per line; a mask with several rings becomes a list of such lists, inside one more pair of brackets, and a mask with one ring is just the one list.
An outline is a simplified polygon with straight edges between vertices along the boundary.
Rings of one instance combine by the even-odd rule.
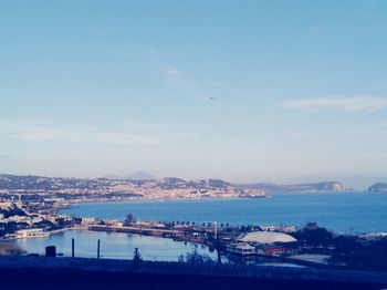
[[87, 142], [100, 144], [158, 144], [159, 136], [107, 130], [55, 120], [0, 120], [0, 134], [24, 142]]

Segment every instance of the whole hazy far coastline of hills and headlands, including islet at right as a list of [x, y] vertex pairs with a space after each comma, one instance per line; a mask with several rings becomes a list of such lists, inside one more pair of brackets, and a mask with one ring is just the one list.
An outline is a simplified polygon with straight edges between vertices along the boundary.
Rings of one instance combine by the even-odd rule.
[[[64, 198], [67, 200], [127, 200], [133, 198], [259, 198], [275, 193], [349, 191], [339, 182], [322, 182], [294, 185], [232, 184], [221, 179], [185, 180], [177, 177], [156, 179], [146, 173], [126, 177], [71, 178], [19, 176], [0, 174], [0, 199], [23, 195], [28, 200]], [[387, 184], [378, 183], [369, 191], [387, 191]]]

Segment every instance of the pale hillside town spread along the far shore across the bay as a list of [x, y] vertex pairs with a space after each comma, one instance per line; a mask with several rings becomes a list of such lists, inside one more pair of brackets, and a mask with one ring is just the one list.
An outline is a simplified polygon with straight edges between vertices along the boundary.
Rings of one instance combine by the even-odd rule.
[[43, 201], [63, 198], [70, 203], [174, 199], [174, 198], [257, 198], [265, 193], [241, 189], [219, 179], [184, 180], [169, 177], [159, 180], [81, 179], [0, 175], [0, 196], [8, 200]]

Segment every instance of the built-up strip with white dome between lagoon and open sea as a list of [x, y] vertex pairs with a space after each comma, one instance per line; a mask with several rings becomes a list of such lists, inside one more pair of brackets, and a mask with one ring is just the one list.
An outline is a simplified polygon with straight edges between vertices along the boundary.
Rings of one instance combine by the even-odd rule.
[[[230, 255], [282, 257], [299, 253], [297, 240], [286, 234], [294, 232], [294, 226], [230, 226], [216, 222], [195, 224], [189, 221], [100, 220], [83, 218], [83, 226], [91, 230], [123, 231], [130, 234], [164, 236], [177, 240], [216, 247], [217, 239], [222, 252]], [[281, 231], [281, 232], [280, 232]]]

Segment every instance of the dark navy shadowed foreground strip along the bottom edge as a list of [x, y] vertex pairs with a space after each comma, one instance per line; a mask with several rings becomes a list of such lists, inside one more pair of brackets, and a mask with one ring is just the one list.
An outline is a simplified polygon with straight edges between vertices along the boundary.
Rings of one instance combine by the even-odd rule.
[[386, 272], [1, 257], [0, 289], [381, 289]]

